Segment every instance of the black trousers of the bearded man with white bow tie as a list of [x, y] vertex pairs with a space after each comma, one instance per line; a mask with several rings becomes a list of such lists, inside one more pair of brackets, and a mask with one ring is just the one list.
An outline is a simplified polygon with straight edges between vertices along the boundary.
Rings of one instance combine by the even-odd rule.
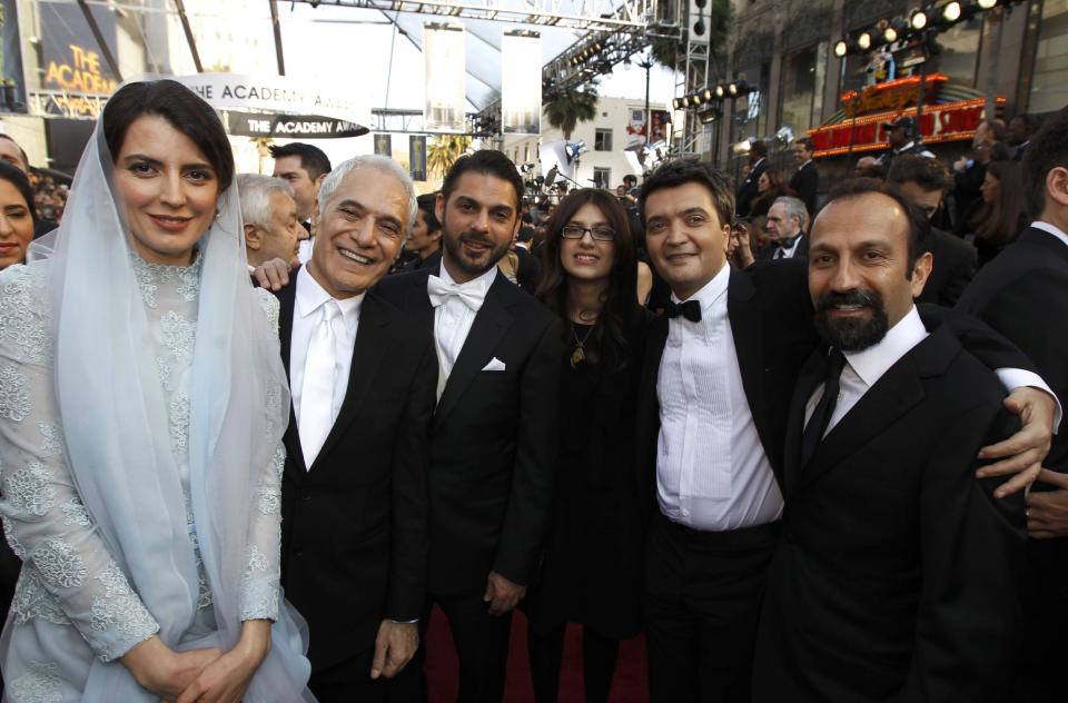
[[[504, 697], [504, 680], [508, 663], [508, 636], [512, 613], [491, 615], [482, 594], [463, 596], [432, 595], [419, 621], [419, 651], [408, 669], [423, 672], [426, 663], [426, 626], [434, 605], [442, 608], [453, 632], [453, 646], [459, 659], [457, 703], [497, 703]], [[426, 679], [421, 675], [419, 695], [426, 700]], [[408, 681], [402, 689], [409, 691]]]

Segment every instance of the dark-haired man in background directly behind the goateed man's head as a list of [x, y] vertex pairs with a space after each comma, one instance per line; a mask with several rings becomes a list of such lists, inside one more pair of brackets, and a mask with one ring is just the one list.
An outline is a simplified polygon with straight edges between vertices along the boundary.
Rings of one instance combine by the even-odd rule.
[[[887, 180], [923, 210], [929, 221], [939, 211], [942, 197], [952, 185], [941, 161], [910, 155], [893, 160]], [[933, 268], [923, 293], [916, 300], [953, 307], [979, 269], [979, 254], [971, 244], [937, 227], [931, 227], [928, 242]]]

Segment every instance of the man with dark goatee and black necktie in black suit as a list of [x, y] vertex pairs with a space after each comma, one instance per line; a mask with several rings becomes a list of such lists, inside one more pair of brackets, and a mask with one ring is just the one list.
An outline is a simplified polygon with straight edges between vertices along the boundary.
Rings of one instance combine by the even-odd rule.
[[995, 374], [920, 319], [928, 234], [871, 180], [832, 190], [813, 224], [823, 345], [790, 409], [756, 703], [995, 702], [1012, 680], [1024, 496], [998, 501], [975, 472], [1015, 418]]

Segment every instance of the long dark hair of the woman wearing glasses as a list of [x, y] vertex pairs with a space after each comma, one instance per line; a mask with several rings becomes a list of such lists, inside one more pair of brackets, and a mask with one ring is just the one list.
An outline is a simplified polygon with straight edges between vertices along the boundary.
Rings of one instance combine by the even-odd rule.
[[[567, 319], [567, 274], [560, 263], [563, 240], [561, 232], [575, 212], [587, 204], [601, 210], [615, 231], [615, 239], [609, 286], [601, 294], [601, 314], [590, 331], [590, 343], [585, 345], [586, 360], [599, 364], [604, 370], [614, 372], [626, 366], [631, 356], [626, 344], [627, 330], [636, 321], [640, 310], [634, 238], [626, 211], [613, 194], [597, 188], [582, 188], [573, 190], [560, 201], [545, 228], [545, 247], [542, 253], [544, 274], [535, 295], [557, 315]], [[567, 336], [570, 339], [570, 325]]]

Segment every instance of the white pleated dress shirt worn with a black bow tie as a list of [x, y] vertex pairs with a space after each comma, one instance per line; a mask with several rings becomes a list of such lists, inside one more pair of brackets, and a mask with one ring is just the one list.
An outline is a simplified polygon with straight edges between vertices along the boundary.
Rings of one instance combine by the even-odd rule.
[[782, 515], [782, 494], [742, 387], [726, 311], [729, 279], [723, 266], [690, 298], [701, 301], [701, 321], [669, 320], [656, 380], [660, 509], [671, 521], [713, 532]]

